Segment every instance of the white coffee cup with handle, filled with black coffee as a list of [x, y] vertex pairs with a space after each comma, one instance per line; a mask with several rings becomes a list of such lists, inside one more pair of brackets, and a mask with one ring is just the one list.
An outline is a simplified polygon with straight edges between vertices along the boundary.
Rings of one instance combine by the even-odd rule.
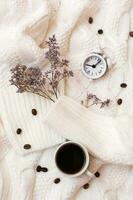
[[82, 144], [67, 141], [59, 145], [55, 152], [55, 163], [57, 168], [64, 174], [77, 177], [86, 173], [88, 176], [94, 176], [89, 167], [89, 153]]

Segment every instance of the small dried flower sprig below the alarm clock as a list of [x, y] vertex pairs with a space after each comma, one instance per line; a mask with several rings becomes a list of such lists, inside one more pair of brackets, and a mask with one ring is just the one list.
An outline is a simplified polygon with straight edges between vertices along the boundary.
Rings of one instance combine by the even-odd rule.
[[102, 101], [96, 95], [92, 93], [87, 93], [85, 100], [81, 101], [81, 104], [85, 106], [86, 108], [93, 105], [100, 105], [100, 108], [104, 108], [105, 106], [108, 107], [110, 103], [111, 103], [110, 99], [106, 99], [105, 101]]

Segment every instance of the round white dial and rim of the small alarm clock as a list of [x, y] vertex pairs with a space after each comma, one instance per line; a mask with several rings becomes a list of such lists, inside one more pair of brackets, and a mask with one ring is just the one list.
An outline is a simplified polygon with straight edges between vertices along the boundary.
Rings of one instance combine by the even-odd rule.
[[90, 79], [98, 79], [107, 71], [107, 62], [102, 55], [93, 53], [85, 60], [83, 73]]

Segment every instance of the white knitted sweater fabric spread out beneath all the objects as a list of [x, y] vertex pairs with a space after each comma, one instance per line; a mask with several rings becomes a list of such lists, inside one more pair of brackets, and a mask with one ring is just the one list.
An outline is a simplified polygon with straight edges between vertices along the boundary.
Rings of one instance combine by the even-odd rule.
[[[88, 23], [89, 17], [93, 23]], [[0, 1], [0, 200], [132, 199], [131, 31], [132, 0]], [[45, 41], [53, 34], [74, 71], [55, 104], [18, 94], [9, 83], [16, 64], [48, 67]], [[81, 73], [81, 66], [91, 52], [101, 49], [112, 65], [104, 77], [92, 81]], [[127, 87], [120, 87], [122, 83]], [[80, 102], [87, 92], [109, 98], [111, 105], [84, 108]], [[57, 170], [54, 152], [66, 138], [84, 144], [91, 156], [103, 161], [99, 178], [70, 178]], [[25, 144], [31, 148], [25, 149]], [[37, 172], [38, 165], [48, 171]], [[60, 182], [55, 184], [57, 178]]]

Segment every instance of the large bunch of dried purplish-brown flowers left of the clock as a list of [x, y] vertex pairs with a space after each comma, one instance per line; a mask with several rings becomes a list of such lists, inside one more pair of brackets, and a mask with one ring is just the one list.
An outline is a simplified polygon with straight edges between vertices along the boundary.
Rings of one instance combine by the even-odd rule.
[[60, 58], [59, 46], [55, 35], [46, 42], [48, 51], [45, 58], [49, 61], [49, 69], [42, 73], [39, 67], [27, 67], [18, 64], [11, 69], [11, 85], [15, 85], [17, 92], [31, 92], [55, 102], [58, 98], [59, 83], [63, 79], [73, 77], [69, 69], [69, 61]]

